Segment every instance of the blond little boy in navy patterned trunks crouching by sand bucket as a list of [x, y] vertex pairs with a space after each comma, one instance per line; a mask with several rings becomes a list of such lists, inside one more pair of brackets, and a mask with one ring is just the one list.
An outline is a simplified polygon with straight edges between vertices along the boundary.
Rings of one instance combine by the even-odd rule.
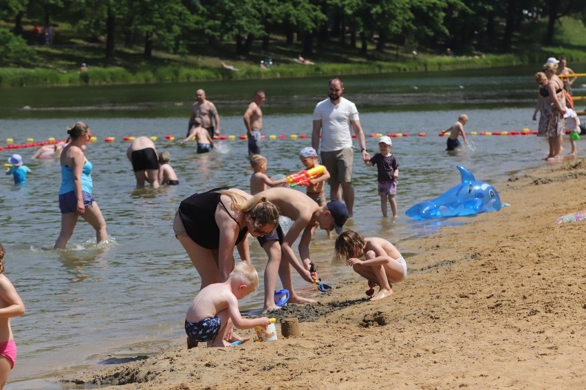
[[199, 291], [185, 317], [187, 348], [197, 347], [199, 341], [211, 341], [212, 347], [227, 347], [230, 343], [224, 339], [231, 333], [232, 323], [239, 329], [267, 327], [267, 317], [243, 319], [238, 308], [238, 299], [258, 286], [257, 271], [243, 262], [235, 266], [226, 282], [210, 284]]

